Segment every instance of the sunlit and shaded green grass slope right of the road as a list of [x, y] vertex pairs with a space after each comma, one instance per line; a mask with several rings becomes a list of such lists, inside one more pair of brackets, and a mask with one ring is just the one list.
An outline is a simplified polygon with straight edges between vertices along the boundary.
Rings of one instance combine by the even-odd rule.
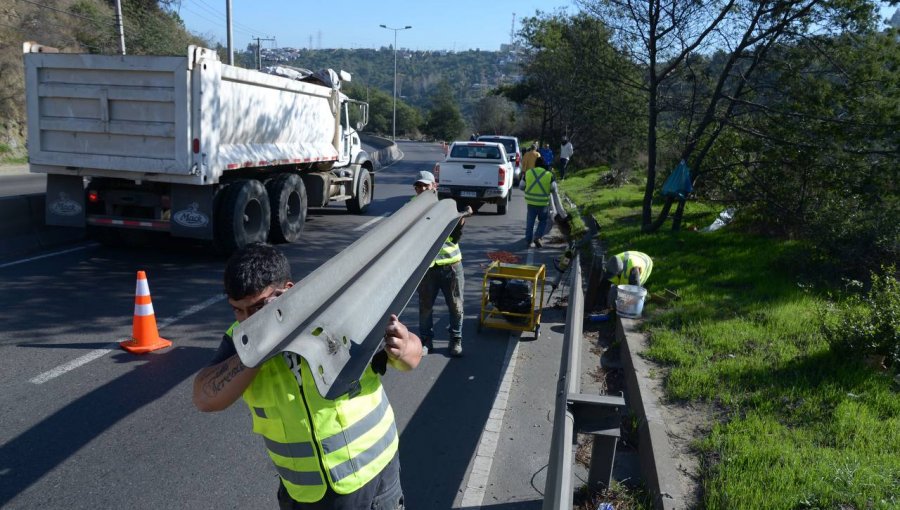
[[666, 368], [667, 398], [719, 410], [697, 445], [705, 507], [900, 507], [900, 398], [888, 373], [829, 349], [829, 289], [807, 283], [824, 278], [799, 262], [806, 247], [737, 226], [693, 231], [719, 210], [695, 202], [681, 232], [641, 233], [643, 189], [604, 187], [601, 173], [561, 189], [599, 220], [611, 253], [653, 257], [651, 293], [681, 295], [647, 304], [647, 355]]

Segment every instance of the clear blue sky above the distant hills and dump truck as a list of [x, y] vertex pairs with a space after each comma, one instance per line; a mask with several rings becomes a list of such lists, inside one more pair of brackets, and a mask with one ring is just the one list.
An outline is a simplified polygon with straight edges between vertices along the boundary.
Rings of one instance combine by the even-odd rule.
[[[225, 0], [181, 0], [173, 4], [191, 32], [226, 44]], [[515, 13], [516, 30], [535, 11], [567, 8], [572, 0], [231, 0], [234, 48], [243, 50], [252, 38], [263, 48], [380, 48], [394, 44], [394, 31], [380, 28], [412, 26], [397, 32], [397, 47], [412, 50], [496, 51], [509, 43]], [[277, 44], [277, 46], [276, 46]]]

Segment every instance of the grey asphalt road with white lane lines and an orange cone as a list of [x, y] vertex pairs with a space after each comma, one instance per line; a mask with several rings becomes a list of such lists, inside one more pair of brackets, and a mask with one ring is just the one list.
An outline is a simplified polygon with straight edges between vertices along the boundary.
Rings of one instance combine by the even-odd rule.
[[[415, 172], [441, 157], [436, 144], [401, 149], [405, 158], [377, 174], [366, 215], [313, 212], [301, 242], [282, 246], [295, 280], [405, 204]], [[494, 210], [470, 218], [461, 243], [464, 357], [447, 355], [439, 299], [436, 352], [384, 378], [409, 509], [540, 507], [562, 331], [547, 324], [539, 341], [476, 332], [487, 252], [529, 256], [521, 192], [507, 215]], [[165, 243], [68, 250], [0, 264], [0, 507], [276, 507], [277, 478], [246, 406], [203, 414], [191, 403], [194, 374], [233, 320], [221, 293], [224, 259]], [[137, 270], [147, 272], [160, 333], [174, 344], [143, 356], [117, 345], [131, 333]], [[415, 330], [415, 297], [401, 320]]]

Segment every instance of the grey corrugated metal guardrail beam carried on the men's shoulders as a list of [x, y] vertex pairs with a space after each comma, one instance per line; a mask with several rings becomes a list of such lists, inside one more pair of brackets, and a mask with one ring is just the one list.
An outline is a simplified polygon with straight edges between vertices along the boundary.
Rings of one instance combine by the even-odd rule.
[[455, 202], [435, 193], [411, 200], [238, 325], [241, 362], [255, 367], [294, 352], [325, 398], [354, 393], [381, 349], [388, 318], [406, 307], [459, 218]]

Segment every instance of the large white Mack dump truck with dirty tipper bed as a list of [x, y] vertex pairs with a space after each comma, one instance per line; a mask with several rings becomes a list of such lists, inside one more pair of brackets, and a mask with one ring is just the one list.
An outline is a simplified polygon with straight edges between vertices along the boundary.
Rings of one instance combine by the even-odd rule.
[[344, 71], [260, 72], [198, 46], [185, 57], [23, 50], [28, 159], [47, 175], [48, 225], [104, 242], [166, 232], [230, 252], [297, 241], [308, 207], [361, 214], [372, 201], [357, 133], [368, 104], [341, 92]]

